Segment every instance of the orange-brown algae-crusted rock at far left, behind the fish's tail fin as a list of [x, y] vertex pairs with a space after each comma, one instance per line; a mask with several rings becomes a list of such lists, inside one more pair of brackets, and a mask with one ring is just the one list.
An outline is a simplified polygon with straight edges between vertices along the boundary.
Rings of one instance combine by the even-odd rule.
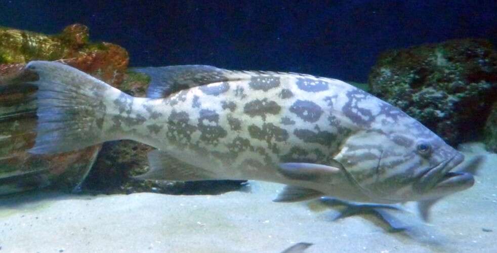
[[36, 127], [37, 78], [24, 70], [31, 60], [60, 60], [119, 86], [128, 53], [109, 43], [89, 43], [88, 28], [70, 25], [61, 34], [44, 35], [0, 27], [0, 194], [49, 185], [71, 190], [88, 174], [100, 145], [56, 155], [32, 155]]

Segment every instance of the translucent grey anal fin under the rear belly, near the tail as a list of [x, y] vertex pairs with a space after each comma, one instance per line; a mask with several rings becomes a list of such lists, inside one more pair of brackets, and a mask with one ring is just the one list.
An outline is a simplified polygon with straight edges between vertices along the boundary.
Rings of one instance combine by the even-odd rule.
[[217, 180], [214, 173], [183, 162], [167, 152], [152, 150], [148, 153], [150, 170], [135, 177], [143, 180], [201, 181]]

